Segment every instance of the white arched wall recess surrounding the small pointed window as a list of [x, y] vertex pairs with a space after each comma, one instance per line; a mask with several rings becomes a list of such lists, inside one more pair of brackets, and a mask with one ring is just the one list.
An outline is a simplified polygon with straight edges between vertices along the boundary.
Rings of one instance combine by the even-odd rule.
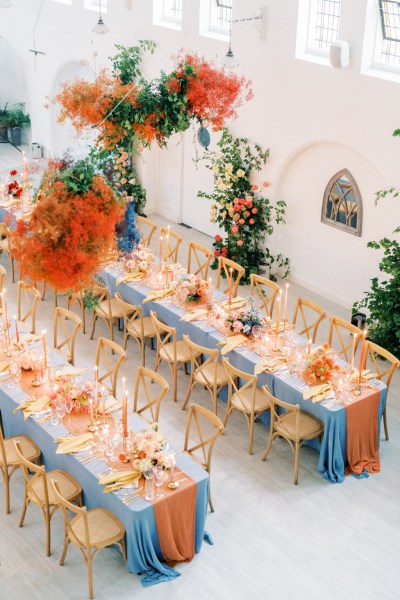
[[[354, 176], [363, 198], [361, 237], [321, 223], [326, 186], [343, 166]], [[293, 281], [350, 308], [377, 273], [379, 257], [367, 242], [393, 229], [373, 202], [375, 192], [384, 187], [382, 174], [353, 148], [318, 140], [290, 153], [274, 179], [274, 198], [287, 203], [287, 224], [276, 228], [272, 249], [290, 257]]]

